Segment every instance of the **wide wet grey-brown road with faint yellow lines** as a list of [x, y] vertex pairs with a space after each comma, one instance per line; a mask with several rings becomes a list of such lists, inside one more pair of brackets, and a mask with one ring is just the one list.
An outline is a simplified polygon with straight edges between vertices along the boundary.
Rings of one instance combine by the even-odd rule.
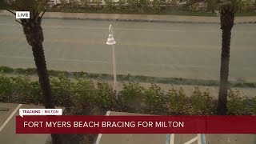
[[[0, 65], [34, 67], [22, 26], [14, 20], [0, 18]], [[217, 24], [45, 19], [48, 68], [112, 74], [112, 50], [106, 45], [110, 24], [117, 41], [118, 74], [219, 78], [222, 34]], [[230, 79], [256, 81], [255, 38], [255, 24], [234, 26]]]

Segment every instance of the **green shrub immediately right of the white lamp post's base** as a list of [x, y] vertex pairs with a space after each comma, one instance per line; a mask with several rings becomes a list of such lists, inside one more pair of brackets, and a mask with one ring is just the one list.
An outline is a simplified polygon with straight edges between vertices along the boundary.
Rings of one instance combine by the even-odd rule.
[[122, 102], [132, 111], [142, 111], [145, 106], [145, 88], [138, 82], [128, 82], [122, 84]]

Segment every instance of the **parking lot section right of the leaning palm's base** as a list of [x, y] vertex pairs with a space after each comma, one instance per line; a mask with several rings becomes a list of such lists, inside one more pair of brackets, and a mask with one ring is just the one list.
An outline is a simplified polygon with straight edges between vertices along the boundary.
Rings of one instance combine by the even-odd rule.
[[[108, 112], [106, 115], [134, 115]], [[135, 114], [138, 115], [138, 114]], [[98, 134], [96, 144], [255, 144], [255, 134]]]

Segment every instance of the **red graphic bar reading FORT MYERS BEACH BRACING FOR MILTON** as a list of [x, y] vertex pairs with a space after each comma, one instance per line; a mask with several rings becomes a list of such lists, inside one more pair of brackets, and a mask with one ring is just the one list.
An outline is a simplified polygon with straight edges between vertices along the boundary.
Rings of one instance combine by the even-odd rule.
[[17, 134], [256, 134], [256, 116], [20, 116]]

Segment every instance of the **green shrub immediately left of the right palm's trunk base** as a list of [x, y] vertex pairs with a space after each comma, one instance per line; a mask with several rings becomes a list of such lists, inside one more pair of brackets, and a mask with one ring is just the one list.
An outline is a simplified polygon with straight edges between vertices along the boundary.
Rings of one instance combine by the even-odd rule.
[[197, 114], [210, 114], [213, 108], [213, 98], [210, 96], [209, 90], [201, 92], [198, 87], [191, 96], [191, 104]]

